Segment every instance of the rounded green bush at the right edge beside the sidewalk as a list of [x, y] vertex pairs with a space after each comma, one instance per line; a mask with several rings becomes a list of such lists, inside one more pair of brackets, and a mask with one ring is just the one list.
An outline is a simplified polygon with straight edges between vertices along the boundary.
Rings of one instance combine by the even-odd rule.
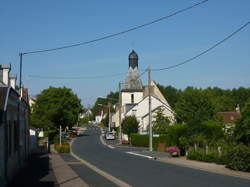
[[250, 147], [237, 145], [228, 151], [227, 157], [227, 167], [239, 171], [250, 171]]

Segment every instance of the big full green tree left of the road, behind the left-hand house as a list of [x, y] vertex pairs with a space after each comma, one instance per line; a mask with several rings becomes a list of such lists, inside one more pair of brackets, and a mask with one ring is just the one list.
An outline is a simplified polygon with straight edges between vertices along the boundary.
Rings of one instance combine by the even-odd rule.
[[81, 100], [69, 88], [49, 87], [37, 96], [31, 123], [39, 128], [72, 127], [82, 111]]

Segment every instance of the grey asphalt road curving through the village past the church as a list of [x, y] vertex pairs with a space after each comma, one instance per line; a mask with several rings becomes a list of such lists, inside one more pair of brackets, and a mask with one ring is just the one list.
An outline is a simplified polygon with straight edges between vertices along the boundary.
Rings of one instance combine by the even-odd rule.
[[[100, 142], [99, 136], [98, 127], [87, 125], [85, 135], [74, 141], [73, 152], [97, 168], [132, 186], [250, 186], [250, 180], [162, 163], [127, 154], [122, 149], [111, 149]], [[75, 171], [84, 179], [83, 171], [80, 170], [78, 168]], [[86, 173], [86, 170], [84, 171]], [[91, 182], [91, 177], [88, 177], [88, 180]], [[100, 181], [96, 186], [106, 186], [105, 184], [108, 183], [100, 175], [95, 176], [93, 180]], [[102, 180], [103, 185], [101, 185]]]

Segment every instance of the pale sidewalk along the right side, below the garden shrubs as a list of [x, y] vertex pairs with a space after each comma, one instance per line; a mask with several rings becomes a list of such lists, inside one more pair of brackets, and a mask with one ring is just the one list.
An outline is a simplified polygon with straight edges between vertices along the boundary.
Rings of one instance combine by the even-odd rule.
[[235, 171], [225, 167], [225, 165], [218, 165], [215, 163], [206, 163], [195, 160], [187, 160], [186, 157], [160, 157], [157, 160], [162, 162], [167, 162], [170, 164], [175, 164], [179, 166], [189, 167], [193, 169], [199, 169], [202, 171], [208, 171], [213, 173], [218, 173], [222, 175], [229, 175], [233, 177], [240, 177], [250, 180], [249, 172]]

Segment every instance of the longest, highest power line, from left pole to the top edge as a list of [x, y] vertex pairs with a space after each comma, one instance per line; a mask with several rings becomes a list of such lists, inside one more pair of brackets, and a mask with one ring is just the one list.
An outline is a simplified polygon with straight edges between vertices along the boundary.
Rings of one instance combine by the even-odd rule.
[[96, 39], [93, 39], [93, 40], [89, 40], [89, 41], [85, 41], [85, 42], [80, 42], [80, 43], [76, 43], [76, 44], [65, 45], [65, 46], [51, 48], [51, 49], [28, 51], [28, 52], [24, 52], [22, 54], [23, 55], [27, 55], [27, 54], [34, 54], [34, 53], [44, 53], [44, 52], [49, 52], [49, 51], [57, 51], [57, 50], [62, 50], [62, 49], [71, 48], [71, 47], [77, 47], [77, 46], [80, 46], [80, 45], [86, 45], [86, 44], [90, 44], [90, 43], [97, 42], [97, 41], [100, 41], [100, 40], [105, 40], [105, 39], [108, 39], [108, 38], [112, 38], [112, 37], [115, 37], [115, 36], [118, 36], [118, 35], [122, 35], [122, 34], [125, 34], [125, 33], [128, 33], [128, 32], [140, 29], [142, 27], [146, 27], [146, 26], [152, 25], [152, 24], [160, 22], [162, 20], [168, 19], [168, 18], [173, 17], [173, 16], [175, 16], [177, 14], [180, 14], [182, 12], [190, 10], [190, 9], [196, 7], [196, 6], [199, 6], [199, 5], [201, 5], [201, 4], [203, 4], [203, 3], [207, 2], [207, 1], [208, 0], [203, 0], [203, 1], [199, 2], [199, 3], [191, 5], [189, 7], [186, 7], [186, 8], [183, 8], [181, 10], [175, 11], [174, 13], [171, 13], [169, 15], [163, 16], [163, 17], [155, 19], [153, 21], [150, 21], [150, 22], [147, 22], [147, 23], [144, 23], [144, 24], [141, 24], [141, 25], [129, 28], [127, 30], [114, 33], [114, 34], [106, 35], [106, 36], [103, 36], [103, 37], [100, 37], [100, 38], [96, 38]]

